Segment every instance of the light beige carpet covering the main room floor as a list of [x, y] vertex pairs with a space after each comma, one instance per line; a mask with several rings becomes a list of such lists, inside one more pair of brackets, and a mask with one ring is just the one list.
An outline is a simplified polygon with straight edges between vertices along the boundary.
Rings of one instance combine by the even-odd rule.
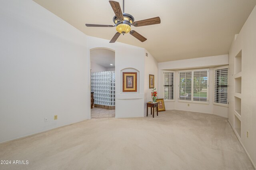
[[0, 144], [0, 169], [253, 169], [227, 119], [185, 111], [91, 119]]

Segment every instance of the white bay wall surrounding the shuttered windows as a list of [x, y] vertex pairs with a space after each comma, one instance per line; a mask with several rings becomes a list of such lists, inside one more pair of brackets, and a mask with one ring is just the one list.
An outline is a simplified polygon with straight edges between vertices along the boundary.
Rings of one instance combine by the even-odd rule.
[[[214, 69], [213, 67], [228, 65], [228, 55], [218, 55], [211, 57], [200, 57], [194, 59], [185, 59], [177, 61], [168, 61], [163, 63], [158, 63], [158, 91], [159, 97], [163, 98], [163, 71], [164, 70], [174, 70], [175, 71], [175, 92], [174, 101], [165, 101], [166, 110], [182, 110], [182, 111], [192, 111], [198, 113], [209, 113], [214, 115], [219, 115], [222, 117], [228, 117], [228, 107], [218, 106], [213, 104], [213, 81], [214, 81]], [[179, 73], [178, 70], [184, 69], [198, 69], [198, 68], [210, 68], [209, 73], [209, 104], [198, 104], [198, 103], [188, 103], [178, 102], [179, 94]]]

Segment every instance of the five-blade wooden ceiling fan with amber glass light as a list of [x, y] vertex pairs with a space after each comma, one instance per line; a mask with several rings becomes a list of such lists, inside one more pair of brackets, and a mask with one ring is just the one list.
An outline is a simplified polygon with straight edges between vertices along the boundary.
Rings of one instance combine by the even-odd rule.
[[[159, 17], [149, 18], [146, 20], [140, 20], [134, 22], [134, 17], [127, 13], [122, 13], [121, 7], [119, 2], [116, 1], [109, 1], [115, 16], [113, 18], [114, 26], [112, 25], [98, 25], [98, 24], [85, 24], [87, 27], [115, 27], [117, 33], [114, 37], [110, 40], [110, 43], [116, 42], [120, 34], [126, 34], [130, 32], [132, 36], [140, 40], [141, 42], [146, 41], [147, 39], [140, 35], [138, 32], [131, 30], [131, 26], [140, 27], [140, 26], [149, 26], [154, 24], [160, 24], [161, 20]], [[124, 0], [123, 0], [123, 12], [124, 12]]]

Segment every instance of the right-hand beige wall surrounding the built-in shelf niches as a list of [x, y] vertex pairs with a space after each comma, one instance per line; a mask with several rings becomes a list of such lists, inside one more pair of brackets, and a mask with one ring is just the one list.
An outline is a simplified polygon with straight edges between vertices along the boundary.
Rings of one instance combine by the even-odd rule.
[[[245, 22], [242, 30], [233, 41], [230, 51], [228, 119], [234, 127], [234, 57], [242, 49], [242, 92], [241, 92], [241, 139], [243, 146], [256, 165], [256, 7]], [[247, 138], [246, 132], [249, 132]]]

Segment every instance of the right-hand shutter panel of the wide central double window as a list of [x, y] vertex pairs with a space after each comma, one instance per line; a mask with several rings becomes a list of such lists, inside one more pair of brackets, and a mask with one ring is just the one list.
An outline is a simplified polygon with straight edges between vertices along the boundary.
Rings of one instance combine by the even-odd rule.
[[194, 71], [193, 101], [207, 101], [208, 71]]

